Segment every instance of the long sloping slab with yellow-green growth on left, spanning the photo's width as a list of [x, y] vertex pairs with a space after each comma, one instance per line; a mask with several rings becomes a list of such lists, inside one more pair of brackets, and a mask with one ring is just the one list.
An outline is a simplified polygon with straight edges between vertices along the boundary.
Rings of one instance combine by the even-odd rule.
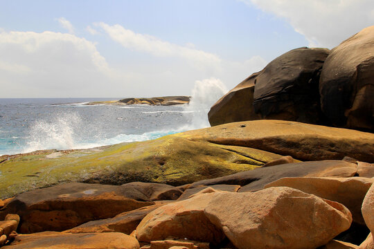
[[[281, 155], [292, 156], [295, 162], [350, 156], [372, 163], [374, 134], [283, 120], [256, 120], [157, 140], [59, 151], [60, 156], [48, 158], [55, 152], [1, 157], [0, 198], [64, 181], [184, 185], [255, 169]], [[371, 168], [364, 168], [370, 174]]]

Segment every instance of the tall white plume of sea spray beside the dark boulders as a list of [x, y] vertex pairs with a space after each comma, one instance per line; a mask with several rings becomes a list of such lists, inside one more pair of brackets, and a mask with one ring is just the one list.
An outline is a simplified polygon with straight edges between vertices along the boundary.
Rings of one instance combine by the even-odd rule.
[[191, 92], [191, 100], [185, 107], [186, 113], [190, 116], [190, 124], [184, 126], [184, 130], [200, 129], [210, 127], [208, 121], [208, 112], [212, 105], [217, 102], [227, 92], [226, 86], [216, 79], [209, 78], [205, 80], [197, 80]]

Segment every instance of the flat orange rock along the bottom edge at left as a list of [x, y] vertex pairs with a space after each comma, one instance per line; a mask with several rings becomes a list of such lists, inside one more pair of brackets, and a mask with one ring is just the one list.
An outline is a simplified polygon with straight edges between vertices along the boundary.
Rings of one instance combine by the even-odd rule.
[[66, 234], [61, 232], [38, 232], [19, 234], [10, 246], [18, 249], [139, 249], [139, 242], [120, 232]]

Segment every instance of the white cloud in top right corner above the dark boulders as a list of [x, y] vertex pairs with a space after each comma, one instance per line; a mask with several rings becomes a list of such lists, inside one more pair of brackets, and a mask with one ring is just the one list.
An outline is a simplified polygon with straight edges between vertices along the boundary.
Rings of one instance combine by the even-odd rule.
[[285, 18], [310, 46], [333, 48], [374, 24], [372, 0], [239, 0]]

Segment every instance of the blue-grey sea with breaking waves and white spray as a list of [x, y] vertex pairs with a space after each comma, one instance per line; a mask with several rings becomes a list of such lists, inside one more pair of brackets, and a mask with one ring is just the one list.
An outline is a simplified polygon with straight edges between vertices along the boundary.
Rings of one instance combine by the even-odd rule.
[[190, 104], [87, 105], [110, 98], [0, 99], [0, 155], [39, 149], [86, 149], [156, 139], [208, 127], [207, 113], [226, 91], [196, 82]]

